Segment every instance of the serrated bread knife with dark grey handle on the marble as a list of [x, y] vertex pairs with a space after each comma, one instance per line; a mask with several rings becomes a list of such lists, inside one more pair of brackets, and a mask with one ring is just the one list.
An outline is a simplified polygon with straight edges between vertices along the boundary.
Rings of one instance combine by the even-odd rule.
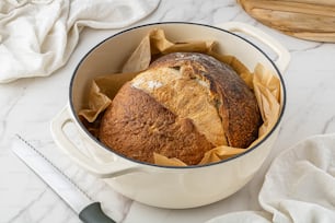
[[115, 223], [80, 187], [31, 143], [16, 134], [12, 151], [38, 175], [84, 223]]

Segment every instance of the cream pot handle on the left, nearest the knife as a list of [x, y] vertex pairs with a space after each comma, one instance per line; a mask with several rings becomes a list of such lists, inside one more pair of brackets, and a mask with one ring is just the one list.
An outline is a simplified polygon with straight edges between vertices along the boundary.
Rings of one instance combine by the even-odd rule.
[[61, 148], [62, 151], [66, 152], [79, 165], [102, 178], [116, 177], [139, 171], [139, 165], [130, 162], [123, 162], [118, 160], [108, 163], [94, 162], [92, 159], [81, 152], [63, 131], [63, 127], [69, 122], [73, 122], [73, 119], [70, 117], [69, 106], [66, 106], [51, 120], [50, 130], [58, 146]]

